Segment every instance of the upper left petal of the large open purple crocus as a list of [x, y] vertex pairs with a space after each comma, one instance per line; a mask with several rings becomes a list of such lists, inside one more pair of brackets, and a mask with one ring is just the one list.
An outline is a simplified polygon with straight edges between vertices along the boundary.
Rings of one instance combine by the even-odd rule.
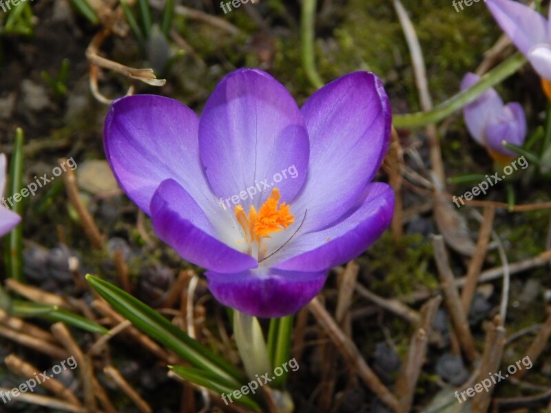
[[191, 109], [162, 96], [127, 96], [111, 105], [103, 132], [107, 160], [118, 184], [148, 215], [154, 191], [168, 178], [203, 209], [216, 207], [200, 166], [198, 127]]

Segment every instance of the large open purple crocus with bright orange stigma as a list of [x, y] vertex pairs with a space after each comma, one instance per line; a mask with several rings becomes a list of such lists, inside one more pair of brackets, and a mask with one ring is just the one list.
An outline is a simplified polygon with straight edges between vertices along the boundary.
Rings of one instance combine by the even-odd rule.
[[[116, 100], [104, 143], [125, 193], [161, 240], [207, 269], [218, 301], [282, 317], [390, 224], [393, 191], [371, 183], [390, 128], [374, 74], [342, 76], [299, 109], [269, 74], [242, 69], [220, 81], [200, 118], [160, 96]], [[284, 178], [291, 168], [295, 178]]]

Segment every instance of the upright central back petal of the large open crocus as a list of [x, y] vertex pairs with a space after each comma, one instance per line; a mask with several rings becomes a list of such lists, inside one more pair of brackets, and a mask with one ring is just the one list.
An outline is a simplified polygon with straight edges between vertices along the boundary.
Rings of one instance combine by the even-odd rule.
[[[264, 180], [278, 187], [282, 202], [289, 202], [306, 178], [309, 139], [304, 120], [287, 89], [261, 70], [236, 70], [220, 81], [203, 110], [199, 142], [217, 197], [237, 199], [249, 188], [260, 188], [261, 193], [242, 197], [245, 211], [251, 204], [258, 209], [268, 198]], [[282, 170], [289, 167], [298, 175], [291, 178], [289, 173], [285, 179]], [[282, 178], [278, 183], [276, 173]]]

